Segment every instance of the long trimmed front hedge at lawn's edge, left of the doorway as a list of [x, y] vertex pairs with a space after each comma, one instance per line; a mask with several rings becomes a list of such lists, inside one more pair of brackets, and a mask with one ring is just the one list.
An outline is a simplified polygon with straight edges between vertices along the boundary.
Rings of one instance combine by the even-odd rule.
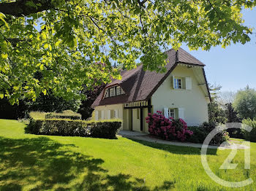
[[27, 131], [48, 136], [87, 136], [116, 139], [121, 120], [83, 121], [67, 119], [31, 119]]

